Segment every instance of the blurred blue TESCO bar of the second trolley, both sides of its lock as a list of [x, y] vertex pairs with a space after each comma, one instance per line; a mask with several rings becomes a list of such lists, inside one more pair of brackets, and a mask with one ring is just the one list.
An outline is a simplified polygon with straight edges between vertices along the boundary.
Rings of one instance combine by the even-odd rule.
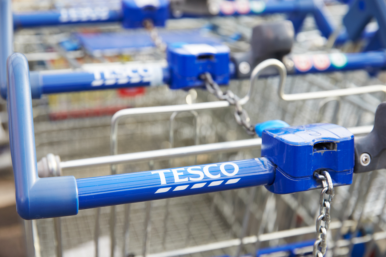
[[[351, 71], [357, 69], [383, 69], [386, 66], [386, 52], [374, 51], [352, 54], [310, 54], [293, 55], [293, 69], [289, 74], [306, 74], [335, 71]], [[168, 67], [154, 64], [148, 66], [146, 72], [138, 72], [138, 68], [126, 67], [113, 70], [106, 66], [96, 71], [31, 71], [30, 83], [32, 98], [40, 98], [42, 94], [76, 92], [123, 87], [156, 86], [170, 83]], [[230, 77], [235, 77], [235, 70], [230, 69]]]

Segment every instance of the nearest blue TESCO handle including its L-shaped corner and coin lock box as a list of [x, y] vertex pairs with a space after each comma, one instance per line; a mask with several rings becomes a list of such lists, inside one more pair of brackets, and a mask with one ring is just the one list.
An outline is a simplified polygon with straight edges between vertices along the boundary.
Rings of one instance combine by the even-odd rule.
[[[265, 185], [274, 193], [320, 188], [315, 170], [334, 186], [352, 183], [354, 136], [334, 124], [266, 129], [263, 158], [76, 180], [39, 178], [28, 62], [7, 59], [8, 124], [17, 212], [24, 219], [76, 215], [79, 209]], [[336, 151], [339, 149], [339, 151]]]

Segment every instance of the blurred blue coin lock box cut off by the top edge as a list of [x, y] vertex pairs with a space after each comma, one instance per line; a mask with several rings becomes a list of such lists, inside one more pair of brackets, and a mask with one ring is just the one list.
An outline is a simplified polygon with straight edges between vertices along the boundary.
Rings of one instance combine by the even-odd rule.
[[169, 18], [168, 0], [123, 0], [123, 20], [125, 28], [144, 27], [144, 20], [152, 20], [154, 26], [165, 26]]

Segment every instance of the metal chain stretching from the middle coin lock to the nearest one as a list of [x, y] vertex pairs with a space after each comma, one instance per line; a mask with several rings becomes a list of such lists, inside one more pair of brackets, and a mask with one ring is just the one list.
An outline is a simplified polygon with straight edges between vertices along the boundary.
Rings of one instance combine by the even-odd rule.
[[255, 127], [249, 123], [250, 118], [247, 111], [245, 111], [239, 103], [240, 97], [236, 96], [230, 90], [227, 90], [224, 94], [220, 86], [213, 81], [212, 75], [210, 75], [209, 72], [201, 74], [200, 78], [205, 81], [205, 86], [210, 93], [214, 94], [218, 99], [228, 101], [229, 104], [235, 106], [235, 119], [237, 124], [244, 126], [250, 136], [256, 135]]

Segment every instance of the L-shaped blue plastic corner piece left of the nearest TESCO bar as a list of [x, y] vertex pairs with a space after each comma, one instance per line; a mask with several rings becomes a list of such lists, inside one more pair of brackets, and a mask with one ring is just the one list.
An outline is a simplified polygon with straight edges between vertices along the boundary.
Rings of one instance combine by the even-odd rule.
[[7, 59], [8, 126], [15, 177], [16, 208], [30, 220], [78, 213], [78, 188], [73, 176], [39, 178], [28, 62], [15, 53]]

